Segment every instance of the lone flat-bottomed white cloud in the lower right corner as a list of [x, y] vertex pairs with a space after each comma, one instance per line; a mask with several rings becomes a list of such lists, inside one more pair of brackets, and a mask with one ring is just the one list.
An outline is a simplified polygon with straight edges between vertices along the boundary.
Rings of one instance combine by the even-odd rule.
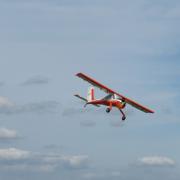
[[173, 159], [162, 156], [143, 157], [138, 162], [140, 165], [145, 166], [174, 166], [176, 164]]

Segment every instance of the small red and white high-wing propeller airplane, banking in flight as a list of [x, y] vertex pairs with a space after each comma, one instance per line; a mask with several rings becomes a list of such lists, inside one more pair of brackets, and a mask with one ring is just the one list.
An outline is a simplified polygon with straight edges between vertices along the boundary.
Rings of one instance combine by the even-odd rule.
[[[126, 107], [126, 104], [129, 104], [129, 105], [133, 106], [134, 108], [141, 110], [145, 113], [154, 113], [153, 110], [151, 110], [145, 106], [142, 106], [139, 103], [117, 93], [116, 91], [106, 87], [105, 85], [99, 83], [98, 81], [92, 79], [91, 77], [89, 77], [83, 73], [78, 73], [78, 74], [76, 74], [76, 76], [81, 78], [84, 81], [87, 81], [91, 85], [93, 85], [93, 87], [90, 87], [88, 89], [87, 99], [78, 94], [74, 95], [77, 98], [79, 98], [85, 102], [84, 107], [86, 107], [89, 104], [94, 105], [96, 107], [100, 107], [101, 105], [108, 106], [106, 109], [107, 113], [111, 112], [112, 107], [116, 107], [121, 112], [123, 121], [126, 119], [126, 115], [122, 111], [122, 109], [124, 109]], [[102, 99], [96, 99], [95, 94], [94, 94], [94, 87], [99, 88], [100, 90], [104, 91], [108, 95]]]

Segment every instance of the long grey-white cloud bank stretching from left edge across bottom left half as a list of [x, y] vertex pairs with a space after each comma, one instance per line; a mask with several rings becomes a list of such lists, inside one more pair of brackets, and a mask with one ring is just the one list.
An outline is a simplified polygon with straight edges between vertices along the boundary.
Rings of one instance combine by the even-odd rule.
[[59, 169], [79, 170], [89, 166], [86, 155], [33, 153], [17, 148], [0, 149], [0, 171], [54, 172]]

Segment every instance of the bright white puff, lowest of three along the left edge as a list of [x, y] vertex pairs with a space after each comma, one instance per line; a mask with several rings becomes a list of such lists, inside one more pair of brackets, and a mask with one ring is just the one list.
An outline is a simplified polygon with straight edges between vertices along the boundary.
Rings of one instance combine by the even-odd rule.
[[16, 148], [0, 149], [0, 160], [21, 160], [30, 156], [29, 151]]

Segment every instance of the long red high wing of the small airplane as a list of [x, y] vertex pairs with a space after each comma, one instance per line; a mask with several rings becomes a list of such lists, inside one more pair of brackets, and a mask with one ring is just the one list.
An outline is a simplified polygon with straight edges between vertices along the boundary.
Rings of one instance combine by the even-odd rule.
[[135, 101], [133, 101], [133, 100], [131, 100], [131, 99], [129, 99], [129, 98], [115, 92], [115, 91], [113, 91], [112, 89], [104, 86], [103, 84], [97, 82], [96, 80], [88, 77], [87, 75], [85, 75], [83, 73], [78, 73], [78, 74], [76, 74], [76, 76], [78, 76], [79, 78], [89, 82], [90, 84], [92, 84], [93, 86], [99, 88], [100, 90], [104, 91], [105, 93], [116, 94], [117, 96], [119, 96], [126, 103], [130, 104], [131, 106], [133, 106], [133, 107], [135, 107], [135, 108], [137, 108], [137, 109], [139, 109], [139, 110], [141, 110], [141, 111], [143, 111], [145, 113], [154, 113], [153, 110], [150, 110], [149, 108], [144, 107], [144, 106], [140, 105], [139, 103], [137, 103], [137, 102], [135, 102]]

